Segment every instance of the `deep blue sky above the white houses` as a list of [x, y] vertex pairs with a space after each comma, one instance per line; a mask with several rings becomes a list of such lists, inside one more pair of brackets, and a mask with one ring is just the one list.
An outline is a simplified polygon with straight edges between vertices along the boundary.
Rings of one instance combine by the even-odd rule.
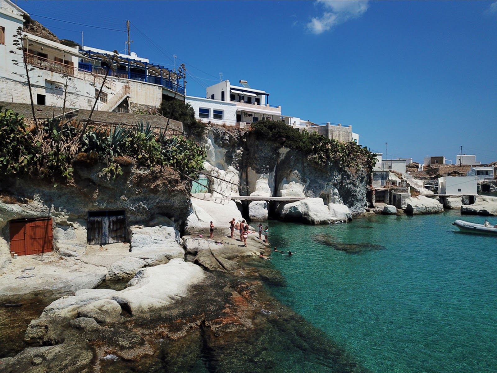
[[[284, 115], [351, 125], [388, 157], [497, 161], [497, 1], [18, 0], [60, 38], [172, 68], [187, 94], [248, 80]], [[43, 18], [50, 17], [54, 19]], [[104, 30], [61, 20], [122, 31]]]

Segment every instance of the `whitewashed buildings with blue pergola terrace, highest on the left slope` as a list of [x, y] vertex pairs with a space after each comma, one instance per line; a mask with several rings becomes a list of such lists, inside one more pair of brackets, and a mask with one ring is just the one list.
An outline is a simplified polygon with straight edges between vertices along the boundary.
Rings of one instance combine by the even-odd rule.
[[[13, 37], [23, 27], [24, 14], [28, 15], [12, 1], [0, 1], [0, 101], [30, 102], [22, 51], [16, 50]], [[69, 47], [28, 32], [22, 35], [28, 68], [34, 68], [29, 73], [34, 103], [62, 107], [66, 97], [66, 107], [91, 109], [113, 53]], [[167, 96], [184, 100], [184, 78], [169, 69], [133, 53], [117, 55], [112, 65], [96, 110], [157, 108]]]

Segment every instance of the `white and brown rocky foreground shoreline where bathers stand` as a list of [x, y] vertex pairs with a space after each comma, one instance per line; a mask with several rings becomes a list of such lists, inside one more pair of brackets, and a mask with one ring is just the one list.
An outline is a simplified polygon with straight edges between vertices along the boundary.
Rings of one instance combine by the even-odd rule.
[[[275, 349], [295, 349], [300, 355], [303, 346], [308, 349], [301, 361], [297, 359], [300, 371], [313, 367], [314, 372], [366, 372], [322, 332], [266, 293], [264, 282], [283, 285], [283, 280], [269, 262], [257, 257], [261, 250], [269, 250], [255, 234], [243, 247], [229, 238], [228, 229], [216, 230], [214, 240], [200, 237], [205, 233], [183, 237], [182, 246], [174, 235], [167, 235], [169, 246], [176, 242], [176, 248], [184, 247], [183, 253], [195, 264], [163, 255], [166, 263], [147, 263], [121, 291], [91, 288], [126, 258], [129, 251], [123, 247], [99, 248], [81, 260], [56, 253], [16, 259], [2, 276], [2, 295], [49, 290], [54, 283], [40, 284], [36, 278], [54, 270], [54, 281], [64, 284], [59, 291], [79, 290], [53, 301], [31, 321], [25, 333], [30, 347], [1, 359], [0, 371], [150, 372], [165, 366], [163, 372], [189, 372], [203, 361], [209, 372], [267, 372], [284, 364], [261, 343], [269, 333], [281, 343]], [[146, 262], [151, 257], [139, 258]], [[89, 264], [97, 258], [105, 265]], [[29, 270], [37, 271], [34, 277], [17, 278], [24, 265], [40, 259], [46, 262]], [[93, 283], [77, 276], [88, 266], [100, 269], [90, 272]], [[71, 271], [64, 272], [67, 268]], [[121, 278], [129, 276], [122, 273]], [[14, 280], [22, 286], [12, 284]]]

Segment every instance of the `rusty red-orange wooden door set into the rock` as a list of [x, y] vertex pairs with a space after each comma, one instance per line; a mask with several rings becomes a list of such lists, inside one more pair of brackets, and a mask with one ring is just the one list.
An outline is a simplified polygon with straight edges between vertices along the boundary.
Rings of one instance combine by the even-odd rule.
[[52, 219], [10, 222], [10, 251], [17, 255], [42, 254], [53, 250]]

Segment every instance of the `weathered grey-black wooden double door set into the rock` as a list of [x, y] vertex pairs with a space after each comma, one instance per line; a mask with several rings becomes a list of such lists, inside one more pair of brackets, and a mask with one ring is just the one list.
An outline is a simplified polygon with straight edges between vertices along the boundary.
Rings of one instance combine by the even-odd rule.
[[125, 242], [126, 216], [124, 211], [89, 211], [86, 230], [90, 245]]

